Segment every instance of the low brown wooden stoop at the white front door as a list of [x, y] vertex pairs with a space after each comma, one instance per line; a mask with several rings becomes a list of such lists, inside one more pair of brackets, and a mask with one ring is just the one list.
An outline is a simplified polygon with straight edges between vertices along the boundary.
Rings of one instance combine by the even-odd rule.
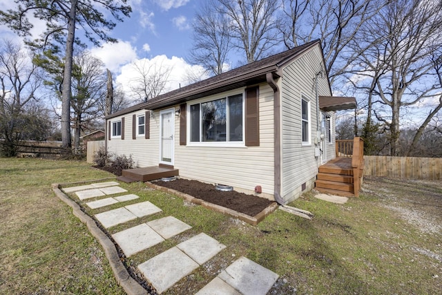
[[123, 170], [122, 176], [119, 176], [117, 180], [122, 182], [146, 182], [177, 175], [179, 175], [178, 169], [173, 169], [166, 166], [151, 166]]

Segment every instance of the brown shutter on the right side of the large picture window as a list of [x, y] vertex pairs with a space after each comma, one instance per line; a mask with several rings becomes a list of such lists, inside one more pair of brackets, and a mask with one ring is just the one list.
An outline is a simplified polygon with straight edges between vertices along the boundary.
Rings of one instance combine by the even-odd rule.
[[246, 89], [246, 146], [260, 145], [259, 87]]

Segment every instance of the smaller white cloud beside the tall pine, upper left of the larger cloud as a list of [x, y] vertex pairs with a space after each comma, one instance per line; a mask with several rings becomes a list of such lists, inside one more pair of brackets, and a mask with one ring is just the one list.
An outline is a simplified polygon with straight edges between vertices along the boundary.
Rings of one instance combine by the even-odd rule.
[[137, 59], [137, 50], [128, 41], [94, 47], [90, 49], [90, 53], [101, 59], [112, 72], [118, 72], [120, 66]]

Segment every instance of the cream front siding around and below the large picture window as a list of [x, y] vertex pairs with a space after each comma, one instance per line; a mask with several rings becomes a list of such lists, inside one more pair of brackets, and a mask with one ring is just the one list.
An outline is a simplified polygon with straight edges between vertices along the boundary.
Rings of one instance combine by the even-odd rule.
[[[238, 91], [243, 93], [244, 89], [229, 93]], [[211, 98], [224, 97], [229, 93]], [[259, 95], [260, 146], [180, 146], [180, 142], [176, 141], [174, 166], [180, 169], [180, 177], [228, 184], [248, 193], [260, 185], [262, 196], [273, 196], [273, 90], [267, 84], [260, 84]], [[179, 120], [175, 120], [175, 132], [179, 130], [179, 124]]]

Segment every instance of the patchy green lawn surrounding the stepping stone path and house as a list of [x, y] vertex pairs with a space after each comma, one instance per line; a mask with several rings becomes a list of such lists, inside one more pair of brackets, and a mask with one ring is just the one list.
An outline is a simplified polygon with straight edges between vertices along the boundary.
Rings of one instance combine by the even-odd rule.
[[[0, 294], [124, 294], [102, 247], [51, 189], [52, 183], [112, 176], [84, 162], [0, 158]], [[344, 205], [306, 193], [291, 205], [314, 213], [313, 220], [277, 210], [258, 227], [144, 184], [122, 187], [163, 212], [108, 234], [170, 215], [193, 227], [124, 260], [129, 268], [200, 232], [227, 246], [166, 294], [197, 292], [240, 256], [280, 275], [271, 294], [438, 294], [442, 289], [441, 182], [366, 179], [361, 197]]]

